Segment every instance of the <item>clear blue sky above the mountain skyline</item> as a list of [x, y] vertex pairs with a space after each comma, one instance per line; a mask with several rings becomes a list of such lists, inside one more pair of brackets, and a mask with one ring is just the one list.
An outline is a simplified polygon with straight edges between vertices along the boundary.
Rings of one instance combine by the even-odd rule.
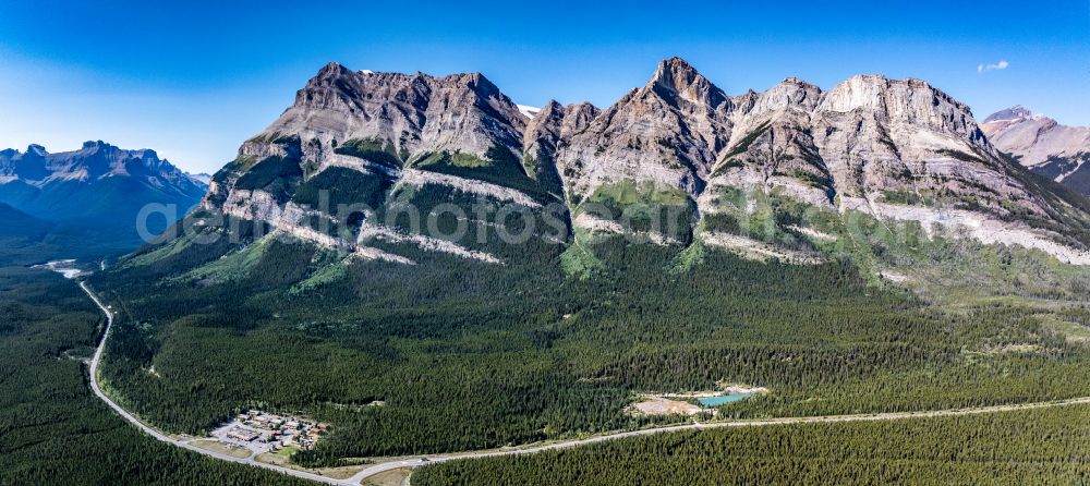
[[1020, 104], [1090, 124], [1090, 0], [36, 0], [0, 2], [0, 147], [105, 139], [211, 172], [328, 61], [480, 71], [516, 102], [608, 106], [670, 56], [730, 94], [882, 73], [978, 119]]

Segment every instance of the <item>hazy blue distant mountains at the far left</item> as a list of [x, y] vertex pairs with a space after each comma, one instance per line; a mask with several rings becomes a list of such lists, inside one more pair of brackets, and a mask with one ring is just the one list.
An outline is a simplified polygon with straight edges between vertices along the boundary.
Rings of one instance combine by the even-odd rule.
[[[0, 204], [48, 224], [51, 233], [63, 233], [62, 253], [131, 250], [141, 243], [136, 216], [145, 205], [174, 205], [181, 217], [206, 189], [150, 149], [125, 150], [98, 141], [57, 154], [39, 145], [0, 150]], [[148, 230], [159, 232], [173, 222], [152, 218]], [[5, 227], [5, 235], [9, 230], [15, 228]]]

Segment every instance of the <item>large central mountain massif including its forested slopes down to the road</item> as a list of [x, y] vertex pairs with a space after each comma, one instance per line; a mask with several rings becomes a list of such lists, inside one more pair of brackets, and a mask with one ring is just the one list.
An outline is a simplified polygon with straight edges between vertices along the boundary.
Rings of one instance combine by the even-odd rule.
[[728, 94], [671, 58], [534, 111], [330, 63], [171, 230], [88, 278], [126, 311], [104, 378], [178, 433], [328, 417], [300, 465], [674, 423], [628, 411], [726, 384], [770, 393], [723, 420], [1090, 381], [1090, 202], [920, 80]]

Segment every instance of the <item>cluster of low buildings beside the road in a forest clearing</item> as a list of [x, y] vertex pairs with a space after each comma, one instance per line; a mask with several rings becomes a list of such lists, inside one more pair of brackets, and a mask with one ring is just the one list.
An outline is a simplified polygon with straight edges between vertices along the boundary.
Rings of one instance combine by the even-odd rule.
[[310, 450], [327, 429], [326, 424], [250, 410], [235, 417], [225, 436], [240, 442], [268, 445], [271, 450], [289, 446]]

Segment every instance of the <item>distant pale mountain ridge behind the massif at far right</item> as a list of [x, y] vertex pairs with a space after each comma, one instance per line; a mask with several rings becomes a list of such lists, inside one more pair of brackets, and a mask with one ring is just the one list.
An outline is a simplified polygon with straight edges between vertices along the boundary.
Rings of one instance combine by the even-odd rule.
[[1062, 125], [1016, 106], [992, 113], [981, 127], [1033, 172], [1090, 195], [1090, 126]]

